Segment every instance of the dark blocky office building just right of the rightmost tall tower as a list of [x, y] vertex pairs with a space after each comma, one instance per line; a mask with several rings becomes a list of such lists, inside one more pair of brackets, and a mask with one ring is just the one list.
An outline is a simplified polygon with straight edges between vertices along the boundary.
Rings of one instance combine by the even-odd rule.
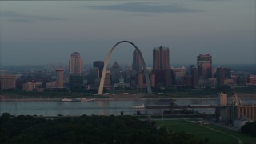
[[230, 68], [218, 67], [216, 71], [217, 86], [224, 86], [225, 79], [231, 78]]

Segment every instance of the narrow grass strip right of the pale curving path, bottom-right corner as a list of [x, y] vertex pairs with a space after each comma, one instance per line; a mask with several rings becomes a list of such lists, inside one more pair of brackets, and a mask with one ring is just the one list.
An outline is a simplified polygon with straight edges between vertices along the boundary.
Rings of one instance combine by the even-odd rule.
[[254, 138], [252, 136], [249, 136], [249, 135], [246, 135], [246, 134], [242, 134], [241, 132], [236, 132], [236, 131], [233, 131], [233, 130], [227, 130], [223, 127], [215, 126], [213, 124], [210, 124], [210, 125], [207, 125], [207, 126], [210, 127], [210, 128], [213, 128], [213, 129], [216, 129], [216, 130], [221, 130], [225, 133], [234, 135], [235, 137], [240, 138], [241, 141], [243, 142], [243, 144], [256, 143], [256, 138]]

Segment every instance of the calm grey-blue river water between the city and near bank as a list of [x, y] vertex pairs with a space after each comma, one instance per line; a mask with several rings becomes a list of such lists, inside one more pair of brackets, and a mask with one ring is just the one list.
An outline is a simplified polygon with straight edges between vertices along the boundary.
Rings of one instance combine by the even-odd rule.
[[[229, 100], [230, 101], [230, 100]], [[242, 99], [243, 104], [256, 104], [256, 98]], [[191, 99], [176, 99], [175, 104], [184, 105], [218, 105], [217, 99], [213, 98], [191, 98]], [[12, 115], [42, 115], [42, 116], [57, 116], [70, 115], [79, 116], [86, 115], [120, 115], [121, 112], [125, 115], [137, 114], [161, 114], [162, 110], [166, 109], [134, 109], [132, 106], [168, 106], [170, 100], [166, 99], [144, 99], [144, 100], [96, 100], [94, 102], [15, 102], [2, 101], [0, 102], [0, 114], [10, 113]], [[214, 114], [214, 109], [196, 109], [199, 112]]]

